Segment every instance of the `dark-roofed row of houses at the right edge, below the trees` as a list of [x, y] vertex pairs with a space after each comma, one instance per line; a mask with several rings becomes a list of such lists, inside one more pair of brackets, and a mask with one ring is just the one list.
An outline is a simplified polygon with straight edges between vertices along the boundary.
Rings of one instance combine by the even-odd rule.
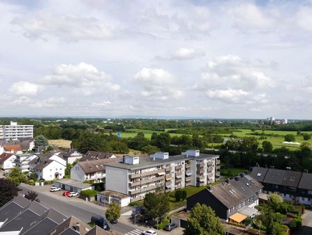
[[263, 184], [264, 193], [279, 193], [284, 200], [311, 206], [311, 173], [254, 167], [251, 175]]

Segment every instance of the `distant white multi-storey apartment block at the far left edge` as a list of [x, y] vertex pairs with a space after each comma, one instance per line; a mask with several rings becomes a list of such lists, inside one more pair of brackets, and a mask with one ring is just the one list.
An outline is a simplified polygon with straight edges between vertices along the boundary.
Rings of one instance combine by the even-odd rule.
[[17, 122], [10, 122], [10, 125], [0, 126], [0, 139], [19, 138], [33, 138], [33, 125], [18, 125]]

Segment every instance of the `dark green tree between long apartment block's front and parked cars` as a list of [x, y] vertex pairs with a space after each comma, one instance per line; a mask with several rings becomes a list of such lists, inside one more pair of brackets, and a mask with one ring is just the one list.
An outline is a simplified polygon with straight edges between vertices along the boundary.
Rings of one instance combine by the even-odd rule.
[[146, 193], [144, 197], [144, 207], [146, 212], [153, 219], [162, 220], [169, 211], [169, 196], [168, 194]]

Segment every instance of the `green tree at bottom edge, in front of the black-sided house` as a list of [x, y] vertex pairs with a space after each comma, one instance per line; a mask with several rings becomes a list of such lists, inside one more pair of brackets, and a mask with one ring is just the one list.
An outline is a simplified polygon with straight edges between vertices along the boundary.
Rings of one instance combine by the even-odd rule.
[[225, 234], [222, 223], [211, 207], [196, 203], [187, 220], [188, 225], [184, 235], [219, 235]]

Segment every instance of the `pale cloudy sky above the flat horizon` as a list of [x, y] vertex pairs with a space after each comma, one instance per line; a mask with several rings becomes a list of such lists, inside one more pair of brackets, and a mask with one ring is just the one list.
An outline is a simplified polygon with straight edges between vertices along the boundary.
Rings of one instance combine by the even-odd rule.
[[0, 1], [0, 116], [311, 119], [312, 1]]

